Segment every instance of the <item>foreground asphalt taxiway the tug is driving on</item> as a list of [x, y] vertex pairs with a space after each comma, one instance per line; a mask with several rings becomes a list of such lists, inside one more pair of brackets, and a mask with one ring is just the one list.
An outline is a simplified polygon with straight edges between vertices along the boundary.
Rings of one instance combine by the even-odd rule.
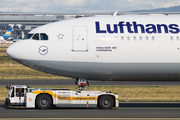
[[0, 103], [0, 119], [180, 119], [180, 103], [120, 103], [119, 108], [17, 109]]

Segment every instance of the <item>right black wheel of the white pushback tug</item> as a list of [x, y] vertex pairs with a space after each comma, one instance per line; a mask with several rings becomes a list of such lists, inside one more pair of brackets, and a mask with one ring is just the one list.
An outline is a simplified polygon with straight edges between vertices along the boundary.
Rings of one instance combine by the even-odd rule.
[[101, 96], [99, 98], [99, 106], [102, 109], [112, 109], [114, 106], [114, 99], [112, 96]]

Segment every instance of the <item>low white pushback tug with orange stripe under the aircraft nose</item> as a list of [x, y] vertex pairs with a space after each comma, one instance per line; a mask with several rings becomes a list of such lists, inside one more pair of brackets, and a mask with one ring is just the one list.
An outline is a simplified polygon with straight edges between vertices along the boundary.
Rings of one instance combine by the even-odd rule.
[[48, 109], [55, 107], [119, 107], [118, 95], [103, 91], [72, 91], [69, 89], [40, 89], [27, 85], [10, 85], [6, 106]]

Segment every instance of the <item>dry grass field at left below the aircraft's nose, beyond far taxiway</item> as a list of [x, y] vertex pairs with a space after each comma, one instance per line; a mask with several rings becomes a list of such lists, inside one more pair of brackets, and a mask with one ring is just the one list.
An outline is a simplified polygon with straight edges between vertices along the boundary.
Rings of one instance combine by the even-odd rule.
[[[4, 47], [5, 45], [0, 45]], [[0, 48], [0, 79], [69, 79], [40, 72], [12, 60], [6, 54], [7, 48]]]

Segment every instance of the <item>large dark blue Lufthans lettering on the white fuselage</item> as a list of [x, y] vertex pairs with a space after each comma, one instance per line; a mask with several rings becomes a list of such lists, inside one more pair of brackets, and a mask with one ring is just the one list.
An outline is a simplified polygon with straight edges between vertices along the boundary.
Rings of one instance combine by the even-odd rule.
[[118, 24], [106, 24], [106, 29], [100, 29], [100, 22], [95, 22], [96, 33], [124, 33], [125, 27], [128, 33], [172, 33], [178, 34], [180, 32], [177, 24], [138, 24], [136, 21], [124, 22], [120, 21]]

